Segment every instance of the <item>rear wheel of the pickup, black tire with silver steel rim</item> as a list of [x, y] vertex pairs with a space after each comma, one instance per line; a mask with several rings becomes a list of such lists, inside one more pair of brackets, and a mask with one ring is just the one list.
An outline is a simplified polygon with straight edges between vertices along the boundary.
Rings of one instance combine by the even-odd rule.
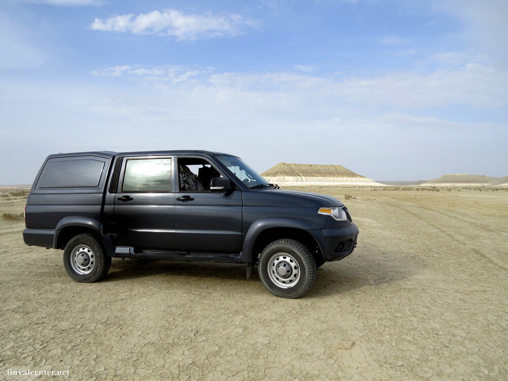
[[[82, 259], [72, 261], [71, 257], [75, 258], [75, 255], [81, 256]], [[84, 265], [78, 264], [79, 260]], [[106, 276], [111, 266], [111, 257], [106, 255], [96, 236], [84, 233], [71, 238], [67, 243], [63, 250], [63, 266], [75, 281], [92, 283]]]

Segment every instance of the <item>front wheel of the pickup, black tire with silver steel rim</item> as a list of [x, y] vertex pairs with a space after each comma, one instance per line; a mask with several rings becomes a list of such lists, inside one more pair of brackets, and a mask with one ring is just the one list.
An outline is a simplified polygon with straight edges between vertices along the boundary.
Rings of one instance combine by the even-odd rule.
[[[271, 274], [268, 271], [269, 265]], [[309, 249], [302, 243], [293, 239], [279, 239], [261, 252], [258, 272], [263, 285], [273, 295], [296, 299], [309, 291], [314, 284], [316, 263]], [[283, 274], [285, 272], [288, 275]], [[283, 278], [285, 276], [288, 278]]]

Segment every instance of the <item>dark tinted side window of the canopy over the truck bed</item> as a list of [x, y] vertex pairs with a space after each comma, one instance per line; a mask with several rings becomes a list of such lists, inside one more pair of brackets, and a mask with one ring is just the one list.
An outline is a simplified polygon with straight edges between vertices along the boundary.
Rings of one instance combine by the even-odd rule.
[[95, 188], [99, 186], [105, 162], [92, 158], [50, 158], [38, 188]]

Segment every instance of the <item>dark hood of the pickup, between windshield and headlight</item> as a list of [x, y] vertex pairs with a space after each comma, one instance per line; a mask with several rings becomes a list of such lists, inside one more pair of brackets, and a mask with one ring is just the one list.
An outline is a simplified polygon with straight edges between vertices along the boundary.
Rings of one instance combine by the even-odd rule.
[[326, 207], [343, 206], [334, 197], [303, 190], [261, 188], [244, 192], [244, 205]]

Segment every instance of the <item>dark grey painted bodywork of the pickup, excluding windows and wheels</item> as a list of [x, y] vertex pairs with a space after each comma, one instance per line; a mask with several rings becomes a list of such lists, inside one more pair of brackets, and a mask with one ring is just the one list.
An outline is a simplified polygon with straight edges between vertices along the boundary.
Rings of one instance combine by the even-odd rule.
[[[39, 188], [44, 164], [27, 199], [24, 241], [56, 247], [63, 230], [81, 227], [96, 232], [112, 257], [252, 263], [256, 261], [253, 246], [264, 230], [292, 228], [310, 233], [325, 261], [341, 259], [353, 251], [358, 236], [356, 225], [317, 214], [320, 207], [343, 206], [339, 200], [293, 190], [249, 189], [217, 160], [216, 154], [156, 151], [50, 155], [45, 164], [52, 158], [65, 161], [81, 156], [104, 162], [99, 186]], [[121, 192], [126, 160], [140, 157], [171, 158], [173, 192]], [[179, 192], [175, 176], [178, 157], [204, 158], [232, 180], [235, 190], [230, 194]], [[118, 200], [124, 196], [128, 201]], [[177, 200], [183, 196], [193, 200]], [[116, 252], [118, 246], [130, 249]]]

